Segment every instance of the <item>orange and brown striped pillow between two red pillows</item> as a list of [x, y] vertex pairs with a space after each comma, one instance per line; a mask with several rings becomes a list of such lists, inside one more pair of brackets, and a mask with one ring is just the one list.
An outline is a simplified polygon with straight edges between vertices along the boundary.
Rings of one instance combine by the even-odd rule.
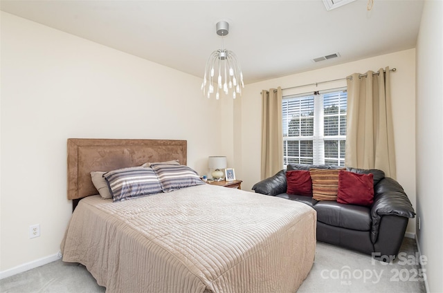
[[[338, 172], [341, 169], [311, 169], [312, 198], [314, 200], [336, 200]], [[343, 168], [342, 170], [345, 170]]]

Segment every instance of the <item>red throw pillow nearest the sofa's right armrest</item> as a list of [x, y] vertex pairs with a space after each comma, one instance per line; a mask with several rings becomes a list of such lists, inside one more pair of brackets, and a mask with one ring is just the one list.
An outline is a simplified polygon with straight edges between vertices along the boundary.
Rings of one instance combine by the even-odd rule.
[[369, 206], [374, 202], [374, 175], [350, 171], [338, 173], [337, 202]]

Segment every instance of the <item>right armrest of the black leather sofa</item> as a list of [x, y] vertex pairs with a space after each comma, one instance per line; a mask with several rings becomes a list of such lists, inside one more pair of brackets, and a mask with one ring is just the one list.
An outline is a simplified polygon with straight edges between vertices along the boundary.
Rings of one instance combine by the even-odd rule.
[[385, 215], [414, 218], [413, 205], [403, 187], [396, 180], [385, 177], [374, 187], [374, 203], [371, 208], [372, 243], [377, 241], [381, 217]]

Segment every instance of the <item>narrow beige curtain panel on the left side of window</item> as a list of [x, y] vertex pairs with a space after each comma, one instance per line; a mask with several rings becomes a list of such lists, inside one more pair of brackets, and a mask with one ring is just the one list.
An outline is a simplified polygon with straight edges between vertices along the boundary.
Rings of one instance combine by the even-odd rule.
[[282, 89], [262, 91], [262, 179], [283, 169]]

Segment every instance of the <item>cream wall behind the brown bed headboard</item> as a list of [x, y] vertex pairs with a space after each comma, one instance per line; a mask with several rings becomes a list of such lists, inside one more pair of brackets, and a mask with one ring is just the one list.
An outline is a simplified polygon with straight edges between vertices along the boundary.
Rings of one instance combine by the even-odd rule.
[[[199, 173], [208, 155], [233, 164], [233, 102], [208, 100], [200, 84], [1, 12], [0, 272], [59, 252], [71, 216], [67, 138], [188, 140], [188, 165]], [[34, 224], [41, 236], [29, 239]]]

